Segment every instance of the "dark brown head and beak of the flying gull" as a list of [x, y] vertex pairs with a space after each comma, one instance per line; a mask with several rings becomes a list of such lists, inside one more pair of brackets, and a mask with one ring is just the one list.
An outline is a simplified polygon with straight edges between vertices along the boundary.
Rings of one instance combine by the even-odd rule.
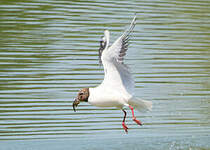
[[80, 102], [87, 102], [89, 97], [89, 88], [81, 89], [73, 102], [73, 109], [76, 112], [76, 107]]

